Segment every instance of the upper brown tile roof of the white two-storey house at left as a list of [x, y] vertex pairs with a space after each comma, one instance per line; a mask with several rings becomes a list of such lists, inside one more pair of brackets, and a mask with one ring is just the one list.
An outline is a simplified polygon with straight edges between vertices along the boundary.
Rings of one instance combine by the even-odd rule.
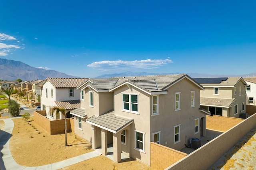
[[[68, 87], [78, 87], [86, 81], [86, 78], [50, 78], [48, 77], [46, 81], [49, 81], [55, 88], [68, 88]], [[43, 85], [44, 85], [43, 83]]]

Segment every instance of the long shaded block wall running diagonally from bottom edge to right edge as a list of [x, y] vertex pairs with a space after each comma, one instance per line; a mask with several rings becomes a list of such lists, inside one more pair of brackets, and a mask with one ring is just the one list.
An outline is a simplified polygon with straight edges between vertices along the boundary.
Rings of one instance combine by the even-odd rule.
[[256, 126], [256, 114], [188, 154], [166, 170], [207, 169]]

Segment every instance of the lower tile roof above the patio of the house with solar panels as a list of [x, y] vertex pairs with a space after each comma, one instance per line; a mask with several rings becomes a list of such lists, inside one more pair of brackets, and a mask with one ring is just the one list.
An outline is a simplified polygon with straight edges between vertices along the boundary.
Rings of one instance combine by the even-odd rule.
[[200, 97], [200, 105], [212, 105], [212, 106], [222, 106], [230, 107], [234, 102], [233, 99], [222, 99], [222, 98], [210, 98], [210, 97]]

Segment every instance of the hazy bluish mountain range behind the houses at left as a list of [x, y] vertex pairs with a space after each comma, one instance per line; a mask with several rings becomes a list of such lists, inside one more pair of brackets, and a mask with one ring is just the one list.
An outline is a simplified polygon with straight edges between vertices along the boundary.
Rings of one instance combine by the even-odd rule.
[[14, 81], [46, 79], [47, 77], [74, 77], [55, 70], [45, 70], [31, 67], [21, 61], [0, 58], [0, 79]]

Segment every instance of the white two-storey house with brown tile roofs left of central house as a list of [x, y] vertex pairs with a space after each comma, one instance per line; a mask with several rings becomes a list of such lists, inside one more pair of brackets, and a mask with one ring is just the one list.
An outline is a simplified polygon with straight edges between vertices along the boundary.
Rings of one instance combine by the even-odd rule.
[[[50, 120], [64, 119], [60, 114], [52, 114], [50, 107], [63, 107], [66, 113], [80, 108], [80, 90], [76, 87], [86, 81], [84, 78], [47, 78], [41, 87], [41, 110], [46, 110], [46, 117]], [[69, 115], [68, 115], [69, 117]]]

